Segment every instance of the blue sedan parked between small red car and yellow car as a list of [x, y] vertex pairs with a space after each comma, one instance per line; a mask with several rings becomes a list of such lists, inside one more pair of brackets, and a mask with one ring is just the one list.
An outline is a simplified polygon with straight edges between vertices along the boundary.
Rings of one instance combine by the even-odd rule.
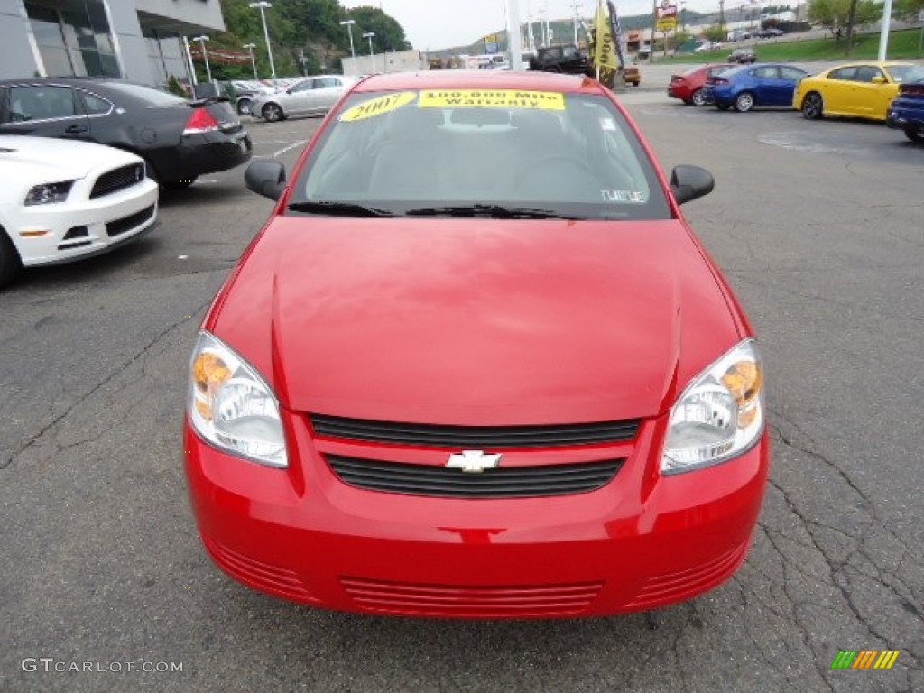
[[808, 72], [779, 63], [735, 67], [706, 82], [717, 108], [746, 113], [754, 106], [793, 106], [793, 91]]

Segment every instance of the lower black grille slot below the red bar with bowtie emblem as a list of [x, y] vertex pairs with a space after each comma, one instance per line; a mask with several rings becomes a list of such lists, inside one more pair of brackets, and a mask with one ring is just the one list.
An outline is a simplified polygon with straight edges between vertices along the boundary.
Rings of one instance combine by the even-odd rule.
[[499, 467], [473, 474], [448, 467], [326, 457], [334, 474], [350, 486], [442, 498], [529, 498], [596, 491], [609, 483], [626, 461]]

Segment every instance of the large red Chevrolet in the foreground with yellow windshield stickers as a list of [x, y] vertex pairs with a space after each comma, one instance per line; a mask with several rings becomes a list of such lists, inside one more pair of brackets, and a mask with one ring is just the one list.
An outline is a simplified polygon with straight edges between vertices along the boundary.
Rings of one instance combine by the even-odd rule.
[[217, 565], [372, 614], [614, 614], [742, 563], [751, 328], [614, 94], [385, 74], [334, 106], [201, 325], [186, 471]]

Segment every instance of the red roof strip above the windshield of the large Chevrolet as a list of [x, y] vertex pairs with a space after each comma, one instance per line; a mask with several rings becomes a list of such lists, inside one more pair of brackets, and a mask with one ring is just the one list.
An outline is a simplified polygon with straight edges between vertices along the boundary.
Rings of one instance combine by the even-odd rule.
[[363, 79], [354, 91], [399, 91], [421, 89], [522, 89], [600, 93], [593, 79], [553, 72], [511, 70], [433, 70], [432, 72], [389, 72]]

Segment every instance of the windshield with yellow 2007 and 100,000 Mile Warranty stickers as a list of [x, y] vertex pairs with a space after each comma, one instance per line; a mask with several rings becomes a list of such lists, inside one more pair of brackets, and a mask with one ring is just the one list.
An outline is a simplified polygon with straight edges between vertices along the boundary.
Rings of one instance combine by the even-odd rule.
[[671, 216], [614, 104], [552, 91], [353, 94], [292, 190], [289, 213]]

